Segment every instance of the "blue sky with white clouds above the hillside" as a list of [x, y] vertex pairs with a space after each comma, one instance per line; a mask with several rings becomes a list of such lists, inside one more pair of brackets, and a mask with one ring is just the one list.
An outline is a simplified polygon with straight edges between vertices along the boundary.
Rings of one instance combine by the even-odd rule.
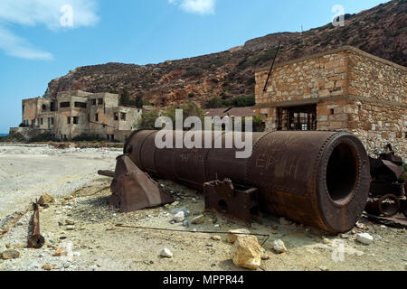
[[332, 21], [376, 0], [1, 0], [0, 133], [21, 123], [21, 100], [78, 66], [158, 63], [225, 51], [269, 33]]

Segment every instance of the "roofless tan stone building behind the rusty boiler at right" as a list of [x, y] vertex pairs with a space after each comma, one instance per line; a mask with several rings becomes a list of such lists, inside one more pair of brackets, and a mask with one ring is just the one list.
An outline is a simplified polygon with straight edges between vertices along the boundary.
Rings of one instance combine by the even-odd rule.
[[407, 68], [351, 46], [256, 70], [266, 129], [347, 130], [369, 154], [393, 144], [407, 159]]

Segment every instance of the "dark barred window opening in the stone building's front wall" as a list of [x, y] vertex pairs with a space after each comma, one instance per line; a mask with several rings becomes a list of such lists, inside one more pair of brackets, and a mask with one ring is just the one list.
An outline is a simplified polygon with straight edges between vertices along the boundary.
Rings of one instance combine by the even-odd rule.
[[317, 106], [278, 108], [278, 130], [317, 130]]

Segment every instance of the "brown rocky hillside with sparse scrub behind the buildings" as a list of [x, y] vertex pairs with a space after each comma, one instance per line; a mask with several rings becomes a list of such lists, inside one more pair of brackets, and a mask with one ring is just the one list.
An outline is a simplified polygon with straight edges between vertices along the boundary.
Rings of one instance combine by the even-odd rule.
[[406, 66], [406, 11], [406, 0], [393, 0], [359, 14], [346, 14], [345, 27], [328, 23], [304, 33], [270, 34], [229, 51], [179, 61], [80, 67], [53, 79], [45, 96], [69, 89], [117, 93], [128, 89], [132, 98], [141, 95], [157, 107], [167, 107], [186, 100], [202, 105], [213, 97], [253, 95], [254, 70], [270, 65], [279, 40], [282, 49], [278, 61], [348, 44]]

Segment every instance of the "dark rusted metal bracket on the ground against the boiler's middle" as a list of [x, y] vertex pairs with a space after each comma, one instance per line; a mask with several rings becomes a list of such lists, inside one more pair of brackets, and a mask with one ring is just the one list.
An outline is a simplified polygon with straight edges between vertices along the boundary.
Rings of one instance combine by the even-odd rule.
[[250, 224], [260, 216], [258, 189], [233, 185], [231, 180], [204, 183], [205, 210]]

